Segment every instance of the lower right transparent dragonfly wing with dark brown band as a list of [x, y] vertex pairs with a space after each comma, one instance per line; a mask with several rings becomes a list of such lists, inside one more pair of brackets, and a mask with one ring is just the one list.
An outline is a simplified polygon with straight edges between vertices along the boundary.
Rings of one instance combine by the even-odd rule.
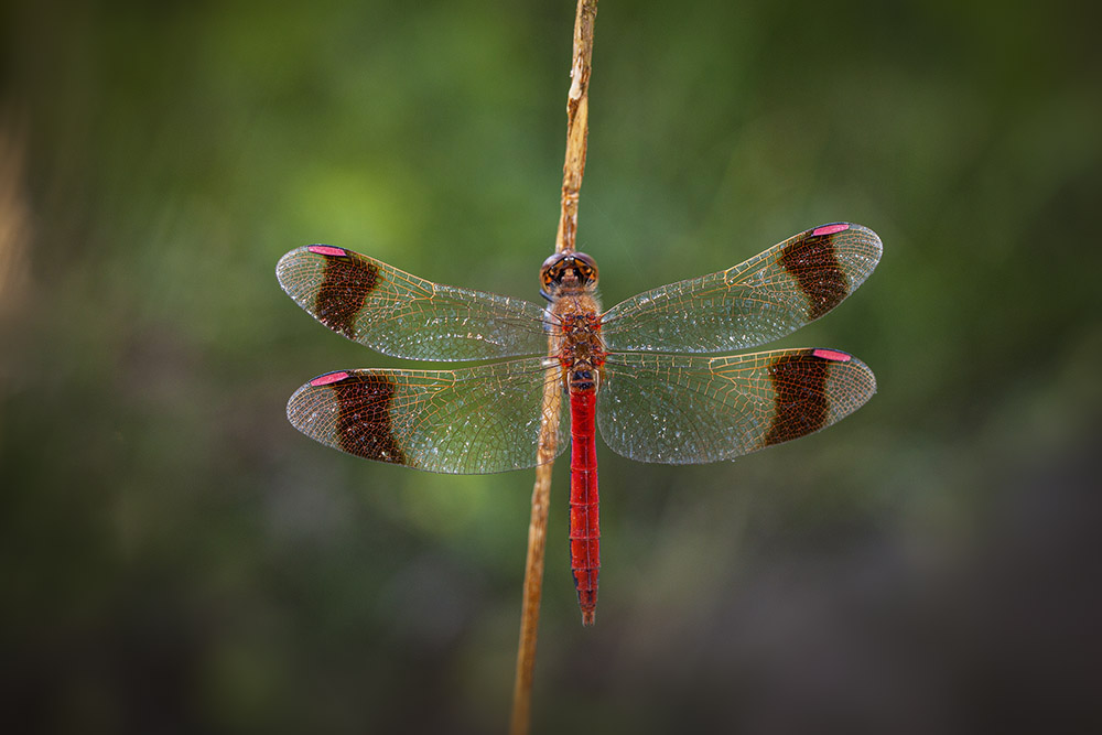
[[832, 349], [733, 357], [609, 355], [597, 424], [617, 454], [703, 464], [806, 436], [876, 391], [861, 360]]

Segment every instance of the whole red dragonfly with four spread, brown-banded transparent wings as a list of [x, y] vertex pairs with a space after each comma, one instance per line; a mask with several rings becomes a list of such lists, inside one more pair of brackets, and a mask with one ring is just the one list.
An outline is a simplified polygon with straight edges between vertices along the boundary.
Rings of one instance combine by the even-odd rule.
[[[582, 623], [592, 625], [601, 569], [596, 429], [631, 460], [703, 464], [849, 415], [876, 379], [845, 352], [715, 354], [757, 347], [824, 315], [868, 278], [880, 252], [871, 229], [828, 224], [603, 311], [596, 262], [582, 252], [547, 259], [541, 306], [433, 283], [339, 247], [301, 247], [280, 259], [277, 277], [329, 329], [393, 357], [483, 364], [326, 372], [291, 396], [287, 415], [342, 452], [436, 473], [531, 468], [570, 445], [571, 569]], [[553, 453], [540, 453], [543, 425], [557, 425]]]

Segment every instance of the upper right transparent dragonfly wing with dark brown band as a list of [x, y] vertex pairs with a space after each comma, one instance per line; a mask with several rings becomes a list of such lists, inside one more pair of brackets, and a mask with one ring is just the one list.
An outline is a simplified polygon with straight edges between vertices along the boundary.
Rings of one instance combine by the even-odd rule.
[[809, 229], [719, 273], [670, 283], [609, 309], [609, 349], [717, 353], [756, 347], [814, 321], [853, 293], [880, 259], [861, 225]]

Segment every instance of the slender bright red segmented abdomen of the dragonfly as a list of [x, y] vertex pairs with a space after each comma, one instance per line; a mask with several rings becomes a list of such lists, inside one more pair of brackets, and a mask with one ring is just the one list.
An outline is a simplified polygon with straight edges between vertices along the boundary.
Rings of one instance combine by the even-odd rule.
[[595, 398], [592, 387], [570, 392], [570, 568], [577, 587], [582, 625], [593, 625], [596, 617], [601, 571]]

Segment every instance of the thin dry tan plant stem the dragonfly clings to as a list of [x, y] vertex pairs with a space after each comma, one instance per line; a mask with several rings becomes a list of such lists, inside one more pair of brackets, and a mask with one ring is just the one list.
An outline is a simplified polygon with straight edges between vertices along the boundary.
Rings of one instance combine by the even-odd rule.
[[[566, 94], [566, 160], [562, 170], [562, 210], [555, 235], [555, 252], [574, 250], [577, 234], [577, 194], [585, 173], [585, 144], [590, 118], [590, 60], [593, 56], [593, 24], [597, 0], [577, 0], [574, 17], [574, 54], [571, 85]], [[549, 354], [552, 343], [549, 341]], [[531, 723], [532, 673], [536, 668], [536, 640], [543, 592], [543, 560], [547, 549], [548, 507], [551, 496], [552, 460], [559, 435], [559, 410], [562, 387], [548, 380], [543, 391], [543, 421], [540, 426], [536, 485], [532, 488], [532, 516], [528, 527], [528, 562], [525, 566], [525, 595], [520, 614], [520, 641], [517, 649], [517, 674], [512, 689], [511, 735], [526, 735]]]

